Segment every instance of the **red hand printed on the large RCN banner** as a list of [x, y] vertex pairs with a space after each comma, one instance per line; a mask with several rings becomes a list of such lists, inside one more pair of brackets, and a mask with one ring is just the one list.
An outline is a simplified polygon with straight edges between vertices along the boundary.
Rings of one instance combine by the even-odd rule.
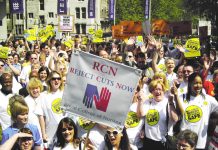
[[105, 87], [101, 89], [100, 98], [98, 94], [94, 95], [95, 106], [98, 110], [106, 112], [111, 97], [111, 92]]

